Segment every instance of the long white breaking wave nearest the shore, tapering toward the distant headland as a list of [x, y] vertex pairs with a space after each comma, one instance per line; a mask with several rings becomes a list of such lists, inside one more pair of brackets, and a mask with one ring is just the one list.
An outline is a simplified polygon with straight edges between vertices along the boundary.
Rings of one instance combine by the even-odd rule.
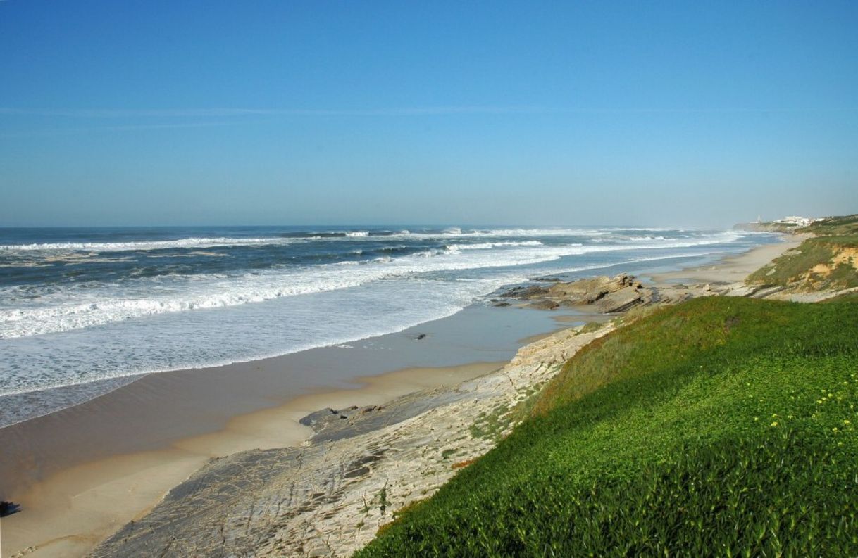
[[0, 339], [57, 333], [147, 315], [223, 308], [314, 292], [336, 291], [372, 281], [413, 277], [423, 273], [517, 267], [593, 252], [687, 248], [724, 243], [736, 237], [738, 236], [734, 233], [728, 232], [681, 241], [655, 240], [646, 243], [587, 246], [579, 243], [546, 246], [523, 242], [509, 243], [504, 245], [503, 250], [492, 250], [492, 243], [482, 246], [471, 244], [470, 248], [462, 244], [399, 258], [382, 256], [372, 261], [360, 262], [360, 265], [324, 264], [301, 268], [275, 268], [237, 275], [168, 275], [128, 279], [110, 285], [77, 284], [60, 288], [58, 291], [47, 291], [32, 300], [21, 300], [21, 292], [17, 291], [16, 287], [6, 287], [0, 289], [0, 301], [14, 300], [15, 306], [0, 303]]

